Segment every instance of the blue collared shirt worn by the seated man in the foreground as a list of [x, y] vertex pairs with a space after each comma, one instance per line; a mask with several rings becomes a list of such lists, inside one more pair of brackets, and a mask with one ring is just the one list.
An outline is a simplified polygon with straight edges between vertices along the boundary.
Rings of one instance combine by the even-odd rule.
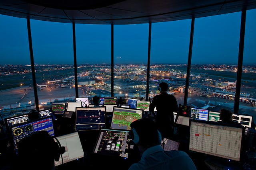
[[196, 170], [188, 154], [181, 150], [164, 151], [160, 145], [146, 149], [139, 162], [128, 170]]

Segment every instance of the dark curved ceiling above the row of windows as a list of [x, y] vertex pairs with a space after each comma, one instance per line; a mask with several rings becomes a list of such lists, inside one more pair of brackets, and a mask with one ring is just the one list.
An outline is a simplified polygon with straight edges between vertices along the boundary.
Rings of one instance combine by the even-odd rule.
[[256, 8], [256, 0], [0, 0], [0, 14], [32, 20], [137, 24]]

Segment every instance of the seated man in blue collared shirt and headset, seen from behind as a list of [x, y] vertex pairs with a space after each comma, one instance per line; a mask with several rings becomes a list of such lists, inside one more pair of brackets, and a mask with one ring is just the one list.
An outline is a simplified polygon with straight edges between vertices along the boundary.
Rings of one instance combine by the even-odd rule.
[[141, 159], [128, 170], [196, 170], [194, 162], [186, 152], [162, 149], [161, 134], [151, 119], [136, 120], [130, 127], [131, 139], [138, 146]]

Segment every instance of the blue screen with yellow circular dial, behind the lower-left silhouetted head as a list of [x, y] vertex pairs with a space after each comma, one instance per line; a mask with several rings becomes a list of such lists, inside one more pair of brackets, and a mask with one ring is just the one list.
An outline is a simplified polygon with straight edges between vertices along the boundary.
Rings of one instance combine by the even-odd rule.
[[20, 139], [36, 131], [47, 131], [51, 136], [54, 136], [53, 120], [51, 116], [27, 121], [22, 124], [11, 125], [10, 130], [12, 131], [14, 146]]

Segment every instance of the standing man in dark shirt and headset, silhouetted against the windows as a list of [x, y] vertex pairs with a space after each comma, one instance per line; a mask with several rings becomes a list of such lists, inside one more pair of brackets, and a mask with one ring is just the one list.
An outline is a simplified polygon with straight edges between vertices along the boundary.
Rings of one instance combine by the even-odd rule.
[[[162, 138], [172, 138], [174, 131], [174, 115], [173, 112], [178, 111], [177, 100], [173, 95], [167, 93], [168, 84], [161, 82], [158, 86], [159, 95], [154, 96], [150, 104], [150, 113], [156, 119], [156, 125], [160, 131]], [[156, 114], [154, 108], [156, 107]]]

